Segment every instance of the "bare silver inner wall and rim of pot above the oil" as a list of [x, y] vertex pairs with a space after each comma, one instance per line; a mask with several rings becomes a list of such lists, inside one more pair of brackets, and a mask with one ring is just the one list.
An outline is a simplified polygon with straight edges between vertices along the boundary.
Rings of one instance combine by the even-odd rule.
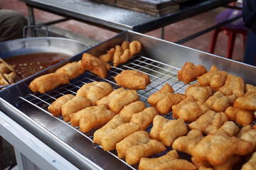
[[83, 42], [68, 38], [38, 37], [21, 38], [0, 42], [1, 58], [38, 52], [60, 52], [74, 56], [90, 48]]

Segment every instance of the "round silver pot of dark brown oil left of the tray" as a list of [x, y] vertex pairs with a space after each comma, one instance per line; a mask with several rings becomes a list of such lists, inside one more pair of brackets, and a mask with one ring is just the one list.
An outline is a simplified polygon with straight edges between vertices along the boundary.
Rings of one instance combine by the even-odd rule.
[[20, 81], [88, 48], [89, 45], [68, 38], [21, 38], [0, 42], [0, 57], [14, 67], [20, 76], [16, 81]]

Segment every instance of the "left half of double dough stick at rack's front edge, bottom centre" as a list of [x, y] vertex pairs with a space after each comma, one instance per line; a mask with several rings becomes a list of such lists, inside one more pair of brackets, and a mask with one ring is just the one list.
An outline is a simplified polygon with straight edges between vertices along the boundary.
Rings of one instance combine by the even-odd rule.
[[139, 130], [137, 132], [133, 132], [132, 135], [129, 135], [117, 143], [117, 154], [118, 157], [124, 158], [126, 156], [127, 149], [134, 145], [138, 145], [140, 143], [145, 144], [149, 142], [149, 133], [145, 130]]

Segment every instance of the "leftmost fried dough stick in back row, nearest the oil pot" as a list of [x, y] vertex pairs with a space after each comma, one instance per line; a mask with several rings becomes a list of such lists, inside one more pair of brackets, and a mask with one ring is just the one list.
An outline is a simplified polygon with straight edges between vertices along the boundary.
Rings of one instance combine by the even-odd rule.
[[68, 75], [64, 73], [50, 73], [45, 74], [41, 77], [37, 77], [31, 81], [29, 84], [29, 89], [33, 92], [39, 91], [41, 94], [46, 93], [46, 91], [50, 91], [55, 89], [60, 84], [68, 84], [69, 79]]

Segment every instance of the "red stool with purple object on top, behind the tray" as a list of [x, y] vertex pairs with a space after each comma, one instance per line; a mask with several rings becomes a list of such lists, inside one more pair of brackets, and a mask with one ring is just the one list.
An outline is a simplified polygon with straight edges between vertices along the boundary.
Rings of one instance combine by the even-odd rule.
[[[216, 16], [215, 21], [216, 23], [222, 23], [230, 18], [234, 18], [235, 16], [239, 16], [242, 14], [242, 11], [235, 10], [235, 9], [228, 9], [225, 10]], [[232, 23], [228, 23], [225, 26], [217, 28], [213, 31], [212, 40], [210, 42], [210, 53], [213, 53], [215, 50], [218, 33], [225, 30], [228, 33], [228, 50], [227, 50], [227, 57], [229, 59], [232, 58], [234, 45], [235, 45], [235, 37], [238, 33], [242, 34], [243, 37], [243, 44], [245, 49], [245, 43], [247, 38], [247, 28], [245, 28], [242, 18], [237, 21], [233, 21]]]

